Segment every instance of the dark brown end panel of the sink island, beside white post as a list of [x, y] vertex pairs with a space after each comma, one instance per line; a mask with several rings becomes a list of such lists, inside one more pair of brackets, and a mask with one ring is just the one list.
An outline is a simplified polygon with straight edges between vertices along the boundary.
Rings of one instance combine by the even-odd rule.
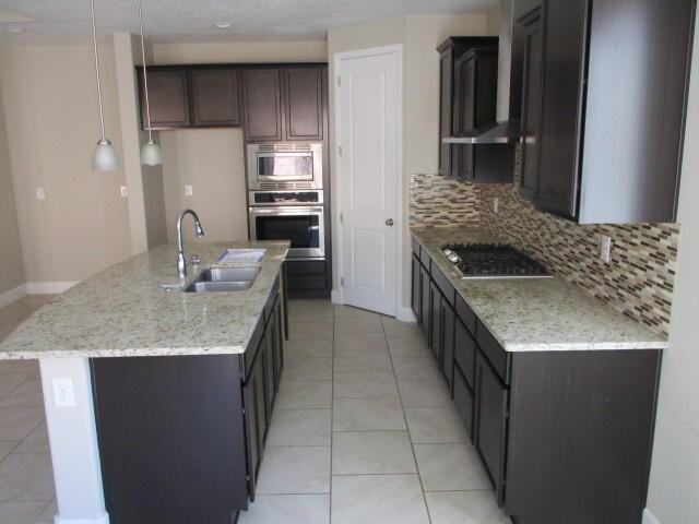
[[247, 509], [239, 355], [91, 365], [111, 524], [228, 524]]

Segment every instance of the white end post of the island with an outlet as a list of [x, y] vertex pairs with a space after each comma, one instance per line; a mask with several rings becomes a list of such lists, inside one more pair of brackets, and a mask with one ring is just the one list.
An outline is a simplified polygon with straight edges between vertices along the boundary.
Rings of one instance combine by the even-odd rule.
[[[42, 358], [39, 367], [58, 503], [56, 522], [109, 524], [88, 361], [86, 358]], [[54, 381], [66, 379], [72, 383], [74, 405], [57, 406]]]

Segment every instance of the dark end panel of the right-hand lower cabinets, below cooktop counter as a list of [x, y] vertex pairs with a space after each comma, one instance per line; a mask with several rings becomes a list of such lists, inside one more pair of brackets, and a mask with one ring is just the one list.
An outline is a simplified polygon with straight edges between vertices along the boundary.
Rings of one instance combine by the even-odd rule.
[[505, 501], [518, 524], [640, 524], [661, 355], [514, 354]]

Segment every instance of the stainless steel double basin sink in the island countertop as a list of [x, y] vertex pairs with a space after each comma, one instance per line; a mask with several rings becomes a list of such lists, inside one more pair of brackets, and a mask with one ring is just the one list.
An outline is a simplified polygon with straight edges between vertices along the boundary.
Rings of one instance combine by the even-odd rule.
[[[218, 262], [260, 262], [264, 249], [229, 249]], [[242, 291], [250, 289], [260, 273], [259, 267], [212, 267], [202, 271], [185, 288], [185, 293]]]

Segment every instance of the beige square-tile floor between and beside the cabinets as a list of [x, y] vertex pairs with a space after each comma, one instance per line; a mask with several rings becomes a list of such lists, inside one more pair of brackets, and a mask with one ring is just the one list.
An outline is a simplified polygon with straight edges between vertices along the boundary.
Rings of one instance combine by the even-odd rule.
[[[0, 310], [0, 340], [46, 302]], [[260, 472], [240, 524], [508, 524], [422, 334], [295, 300]], [[56, 512], [35, 361], [0, 362], [0, 523]]]

